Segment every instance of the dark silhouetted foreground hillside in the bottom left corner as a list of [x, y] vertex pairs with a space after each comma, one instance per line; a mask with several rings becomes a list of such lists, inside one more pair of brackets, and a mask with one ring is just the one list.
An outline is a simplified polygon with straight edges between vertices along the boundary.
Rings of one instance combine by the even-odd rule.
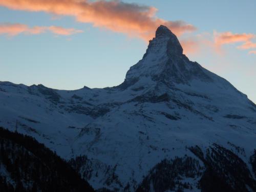
[[30, 136], [0, 127], [0, 191], [94, 191], [74, 169]]

